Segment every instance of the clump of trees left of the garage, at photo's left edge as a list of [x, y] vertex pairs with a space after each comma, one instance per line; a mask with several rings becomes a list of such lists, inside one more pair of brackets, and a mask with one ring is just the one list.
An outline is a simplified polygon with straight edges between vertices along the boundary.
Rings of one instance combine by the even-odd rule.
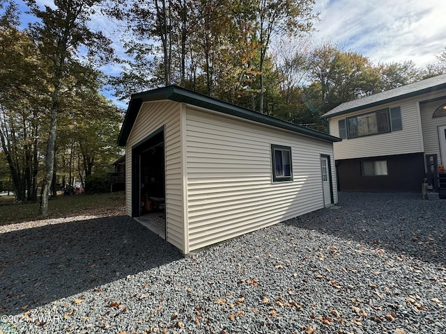
[[45, 215], [56, 182], [109, 169], [122, 113], [100, 93], [98, 63], [113, 50], [86, 25], [98, 1], [26, 3], [36, 20], [20, 29], [17, 4], [0, 1], [0, 161], [8, 166], [1, 180], [18, 200], [37, 200], [40, 187]]

